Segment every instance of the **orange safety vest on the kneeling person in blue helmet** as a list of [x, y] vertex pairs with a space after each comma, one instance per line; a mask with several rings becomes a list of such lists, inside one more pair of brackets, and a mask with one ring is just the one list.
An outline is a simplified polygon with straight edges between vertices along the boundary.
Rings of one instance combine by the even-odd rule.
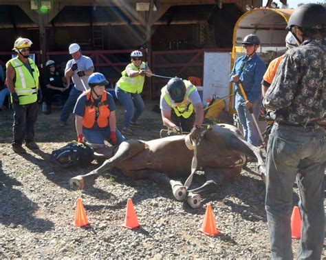
[[[107, 92], [103, 92], [102, 98], [100, 99], [100, 104], [98, 107], [94, 106], [94, 99], [91, 95], [91, 90], [87, 90], [87, 101], [85, 106], [85, 114], [83, 117], [83, 126], [85, 128], [92, 128], [95, 123], [96, 110], [99, 110], [98, 119], [96, 122], [100, 128], [105, 128], [109, 125], [109, 102], [107, 101]], [[89, 97], [91, 100], [89, 101]]]

